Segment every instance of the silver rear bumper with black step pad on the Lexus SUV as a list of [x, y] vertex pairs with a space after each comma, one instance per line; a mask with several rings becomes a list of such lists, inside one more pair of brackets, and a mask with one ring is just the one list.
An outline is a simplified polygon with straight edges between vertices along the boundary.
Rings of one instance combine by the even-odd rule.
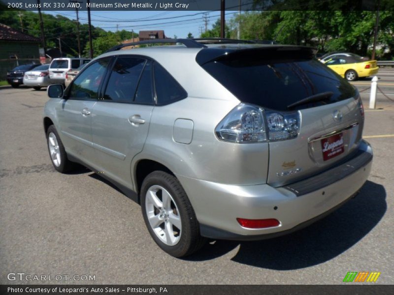
[[[345, 163], [284, 187], [237, 186], [177, 176], [188, 194], [202, 236], [254, 240], [280, 236], [326, 216], [359, 191], [369, 176], [372, 148], [362, 141]], [[280, 221], [277, 227], [246, 229], [236, 218]]]

